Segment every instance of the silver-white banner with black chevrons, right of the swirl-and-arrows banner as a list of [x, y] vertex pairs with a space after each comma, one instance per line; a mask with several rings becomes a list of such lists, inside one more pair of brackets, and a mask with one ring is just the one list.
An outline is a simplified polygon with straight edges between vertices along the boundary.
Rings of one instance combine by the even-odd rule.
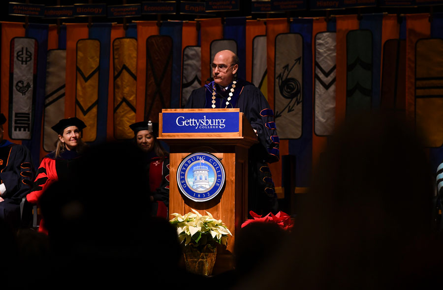
[[314, 132], [332, 135], [335, 125], [336, 33], [316, 35]]

